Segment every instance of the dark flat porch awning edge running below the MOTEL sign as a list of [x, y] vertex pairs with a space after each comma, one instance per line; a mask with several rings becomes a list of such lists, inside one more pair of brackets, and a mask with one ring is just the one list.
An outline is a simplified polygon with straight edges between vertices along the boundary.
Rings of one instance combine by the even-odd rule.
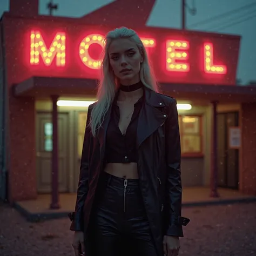
[[[184, 100], [219, 103], [256, 102], [256, 86], [160, 84], [161, 91]], [[95, 96], [97, 82], [84, 78], [31, 77], [14, 85], [15, 97], [50, 98]]]

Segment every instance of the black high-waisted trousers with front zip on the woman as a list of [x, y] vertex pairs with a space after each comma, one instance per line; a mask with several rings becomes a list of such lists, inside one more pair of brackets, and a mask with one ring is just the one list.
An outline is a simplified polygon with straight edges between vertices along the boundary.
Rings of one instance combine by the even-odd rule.
[[138, 179], [103, 173], [91, 216], [97, 256], [157, 256]]

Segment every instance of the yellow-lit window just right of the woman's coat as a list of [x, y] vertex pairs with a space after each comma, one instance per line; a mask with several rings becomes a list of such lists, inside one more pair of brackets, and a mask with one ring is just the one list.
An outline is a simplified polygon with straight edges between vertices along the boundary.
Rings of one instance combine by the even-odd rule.
[[202, 131], [201, 116], [179, 116], [181, 154], [183, 156], [201, 156]]

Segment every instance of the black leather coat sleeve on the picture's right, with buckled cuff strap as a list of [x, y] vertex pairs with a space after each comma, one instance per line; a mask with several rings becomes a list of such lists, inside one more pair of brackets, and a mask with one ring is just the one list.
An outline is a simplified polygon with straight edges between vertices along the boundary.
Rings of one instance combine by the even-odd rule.
[[181, 217], [181, 172], [180, 172], [180, 133], [177, 102], [172, 98], [169, 105], [166, 129], [166, 230], [165, 235], [183, 237], [183, 225], [190, 221]]

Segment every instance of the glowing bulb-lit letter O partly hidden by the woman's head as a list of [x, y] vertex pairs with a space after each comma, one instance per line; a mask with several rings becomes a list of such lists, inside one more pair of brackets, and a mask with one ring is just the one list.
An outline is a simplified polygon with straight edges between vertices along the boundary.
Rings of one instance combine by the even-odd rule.
[[98, 44], [104, 47], [104, 36], [99, 34], [91, 34], [86, 36], [79, 46], [79, 56], [82, 62], [90, 69], [99, 69], [102, 59], [92, 58], [89, 54], [89, 48], [92, 44]]

